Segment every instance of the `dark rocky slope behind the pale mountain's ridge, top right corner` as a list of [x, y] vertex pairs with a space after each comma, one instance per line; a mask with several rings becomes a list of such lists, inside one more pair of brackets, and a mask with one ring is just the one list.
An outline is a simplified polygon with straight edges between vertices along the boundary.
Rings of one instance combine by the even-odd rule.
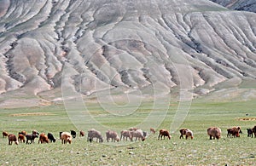
[[254, 0], [211, 0], [228, 9], [245, 10], [248, 12], [256, 12], [256, 1]]

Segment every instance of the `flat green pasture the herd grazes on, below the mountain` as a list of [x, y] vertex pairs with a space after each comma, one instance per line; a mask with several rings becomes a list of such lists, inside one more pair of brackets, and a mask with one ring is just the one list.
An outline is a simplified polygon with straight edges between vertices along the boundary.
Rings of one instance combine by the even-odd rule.
[[[177, 102], [170, 103], [164, 121], [157, 130], [170, 129], [177, 106]], [[188, 116], [180, 126], [191, 129], [194, 140], [179, 139], [176, 131], [172, 133], [171, 140], [158, 140], [156, 133], [149, 135], [143, 142], [125, 143], [122, 140], [106, 143], [104, 140], [105, 143], [100, 144], [95, 141], [90, 143], [86, 137], [78, 135], [71, 145], [61, 145], [59, 139], [55, 143], [38, 144], [36, 139], [32, 145], [9, 146], [7, 138], [1, 135], [0, 165], [256, 165], [256, 138], [247, 138], [246, 130], [256, 125], [256, 121], [253, 121], [253, 117], [256, 117], [255, 109], [256, 100], [194, 100]], [[152, 112], [152, 101], [143, 102], [135, 112], [123, 117], [111, 115], [96, 102], [87, 103], [87, 110], [98, 122], [94, 124], [95, 129], [97, 125], [103, 125], [119, 132], [120, 129], [141, 123]], [[75, 129], [79, 132], [81, 129], [74, 125], [79, 122], [70, 121], [62, 105], [1, 109], [0, 112], [0, 129], [9, 134], [17, 135], [21, 130], [31, 132], [37, 129], [39, 132], [51, 132], [59, 138], [60, 131]], [[247, 120], [240, 120], [243, 118]], [[86, 123], [82, 128], [84, 131], [91, 127], [87, 127]], [[243, 131], [241, 137], [227, 138], [226, 129], [238, 125]], [[211, 126], [222, 129], [220, 140], [209, 140], [207, 128]], [[155, 127], [154, 122], [148, 126], [148, 132], [150, 127]], [[102, 135], [105, 137], [104, 133]]]

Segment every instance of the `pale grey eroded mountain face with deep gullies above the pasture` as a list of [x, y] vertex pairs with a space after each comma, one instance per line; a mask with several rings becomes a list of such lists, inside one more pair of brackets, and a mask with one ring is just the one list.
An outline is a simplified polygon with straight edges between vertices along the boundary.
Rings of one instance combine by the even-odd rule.
[[255, 34], [256, 14], [208, 0], [0, 0], [0, 93], [238, 88]]

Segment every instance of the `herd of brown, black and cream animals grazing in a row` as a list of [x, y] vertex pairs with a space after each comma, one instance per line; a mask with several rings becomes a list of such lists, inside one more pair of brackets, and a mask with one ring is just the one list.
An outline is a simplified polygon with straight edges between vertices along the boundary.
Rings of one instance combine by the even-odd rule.
[[[150, 128], [150, 132], [155, 134], [155, 130], [153, 128]], [[180, 136], [179, 138], [183, 138], [183, 135], [185, 136], [186, 139], [193, 139], [193, 132], [190, 129], [180, 129]], [[230, 129], [227, 129], [227, 137], [240, 137], [241, 132], [241, 127], [232, 127]], [[247, 137], [254, 137], [256, 138], [256, 125], [252, 129], [247, 129]], [[76, 138], [76, 131], [71, 130], [70, 132], [60, 132], [60, 140], [62, 144], [71, 144], [72, 140]], [[85, 133], [84, 131], [79, 132], [79, 136], [84, 136]], [[106, 131], [106, 140], [107, 141], [119, 141], [119, 140], [131, 140], [133, 141], [136, 140], [145, 140], [147, 137], [148, 133], [143, 131], [142, 129], [137, 129], [137, 128], [130, 128], [130, 129], [125, 129], [120, 132], [120, 137], [116, 131], [108, 129]], [[210, 140], [212, 139], [220, 139], [221, 137], [221, 129], [218, 127], [210, 127], [207, 129], [207, 135], [209, 135]], [[6, 131], [3, 131], [3, 138], [8, 137], [8, 144], [12, 145], [13, 142], [15, 142], [15, 145], [18, 145], [19, 143], [25, 143], [26, 144], [32, 144], [34, 143], [35, 139], [38, 138], [38, 144], [44, 144], [44, 143], [49, 143], [49, 142], [55, 142], [56, 138], [54, 137], [53, 134], [48, 133], [45, 135], [44, 133], [39, 134], [37, 130], [32, 130], [32, 134], [27, 134], [26, 131], [21, 131], [18, 133], [18, 136], [13, 134], [8, 134]], [[158, 140], [166, 139], [166, 137], [171, 140], [172, 136], [170, 135], [169, 131], [167, 129], [160, 129], [159, 135], [158, 135]], [[96, 129], [90, 129], [88, 131], [87, 135], [87, 140], [92, 142], [94, 139], [96, 139], [96, 142], [103, 142], [103, 136], [100, 131]]]

